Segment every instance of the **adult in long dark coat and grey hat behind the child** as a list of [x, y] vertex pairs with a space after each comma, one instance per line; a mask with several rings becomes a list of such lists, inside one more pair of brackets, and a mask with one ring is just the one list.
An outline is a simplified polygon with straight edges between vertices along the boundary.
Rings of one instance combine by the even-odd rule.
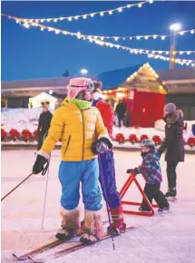
[[177, 174], [176, 167], [180, 161], [184, 161], [183, 142], [183, 112], [176, 109], [175, 104], [168, 103], [164, 107], [165, 139], [159, 149], [160, 155], [167, 150], [165, 161], [167, 161], [167, 179], [169, 190], [165, 197], [176, 197]]

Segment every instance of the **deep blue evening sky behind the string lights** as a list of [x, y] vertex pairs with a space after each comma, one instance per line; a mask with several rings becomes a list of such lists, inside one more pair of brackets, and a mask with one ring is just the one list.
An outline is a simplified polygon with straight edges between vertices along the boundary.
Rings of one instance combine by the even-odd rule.
[[[132, 2], [2, 2], [2, 13], [25, 18], [82, 15], [117, 8]], [[135, 2], [133, 2], [135, 3]], [[73, 22], [49, 23], [51, 26], [83, 34], [144, 35], [170, 34], [169, 26], [180, 22], [182, 30], [195, 28], [195, 2], [154, 2], [125, 9], [122, 13], [96, 16]], [[47, 23], [48, 24], [48, 23]], [[114, 42], [114, 41], [113, 41]], [[116, 44], [116, 42], [114, 42]], [[118, 44], [132, 48], [168, 50], [166, 40], [127, 40]], [[178, 36], [178, 50], [195, 50], [195, 34]], [[183, 54], [180, 58], [195, 59]], [[82, 68], [89, 74], [149, 62], [155, 70], [169, 69], [169, 62], [149, 59], [144, 54], [91, 44], [73, 36], [26, 29], [2, 17], [2, 80], [59, 77], [66, 71], [78, 75]], [[180, 67], [180, 66], [179, 66]]]

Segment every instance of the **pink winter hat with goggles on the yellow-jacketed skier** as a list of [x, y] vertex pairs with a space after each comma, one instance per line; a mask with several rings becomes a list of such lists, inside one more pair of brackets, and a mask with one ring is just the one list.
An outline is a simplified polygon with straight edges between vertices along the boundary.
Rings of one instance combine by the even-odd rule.
[[93, 81], [87, 78], [73, 78], [67, 86], [69, 99], [74, 99], [82, 91], [93, 91]]

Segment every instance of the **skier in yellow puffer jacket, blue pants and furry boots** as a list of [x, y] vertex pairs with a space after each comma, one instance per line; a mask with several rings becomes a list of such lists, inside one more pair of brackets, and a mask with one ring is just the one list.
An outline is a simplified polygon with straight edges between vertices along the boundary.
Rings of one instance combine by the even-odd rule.
[[50, 158], [55, 143], [62, 140], [62, 161], [59, 180], [62, 184], [62, 229], [57, 239], [71, 239], [80, 229], [78, 209], [80, 181], [84, 203], [83, 243], [102, 238], [102, 196], [99, 189], [97, 156], [112, 148], [112, 141], [103, 125], [100, 112], [92, 106], [93, 82], [87, 78], [71, 79], [63, 105], [54, 112], [51, 128], [38, 152], [33, 172], [41, 172]]

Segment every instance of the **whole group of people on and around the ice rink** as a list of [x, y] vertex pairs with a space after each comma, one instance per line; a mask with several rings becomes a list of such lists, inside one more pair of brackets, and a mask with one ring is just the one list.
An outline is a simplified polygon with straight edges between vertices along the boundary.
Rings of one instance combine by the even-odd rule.
[[[126, 228], [115, 180], [112, 151], [114, 112], [112, 106], [102, 99], [101, 87], [102, 83], [91, 79], [73, 78], [68, 85], [67, 97], [54, 112], [54, 116], [45, 107], [40, 116], [39, 151], [33, 166], [34, 174], [44, 170], [55, 144], [62, 141], [62, 161], [59, 167], [62, 227], [56, 233], [57, 239], [72, 239], [78, 230], [83, 231], [81, 241], [84, 244], [102, 239], [102, 195], [112, 216], [108, 233], [119, 235]], [[116, 106], [115, 112], [121, 126], [126, 112], [123, 102]], [[164, 108], [164, 121], [165, 140], [160, 149], [157, 150], [151, 140], [141, 141], [141, 165], [126, 170], [128, 174], [143, 175], [146, 180], [144, 193], [150, 202], [156, 200], [160, 212], [169, 210], [167, 198], [177, 195], [176, 167], [180, 161], [184, 161], [182, 112], [173, 103], [169, 103]], [[169, 189], [164, 195], [161, 192], [160, 158], [165, 150]], [[84, 204], [83, 220], [78, 209], [80, 182]], [[140, 210], [149, 212], [144, 200]]]

